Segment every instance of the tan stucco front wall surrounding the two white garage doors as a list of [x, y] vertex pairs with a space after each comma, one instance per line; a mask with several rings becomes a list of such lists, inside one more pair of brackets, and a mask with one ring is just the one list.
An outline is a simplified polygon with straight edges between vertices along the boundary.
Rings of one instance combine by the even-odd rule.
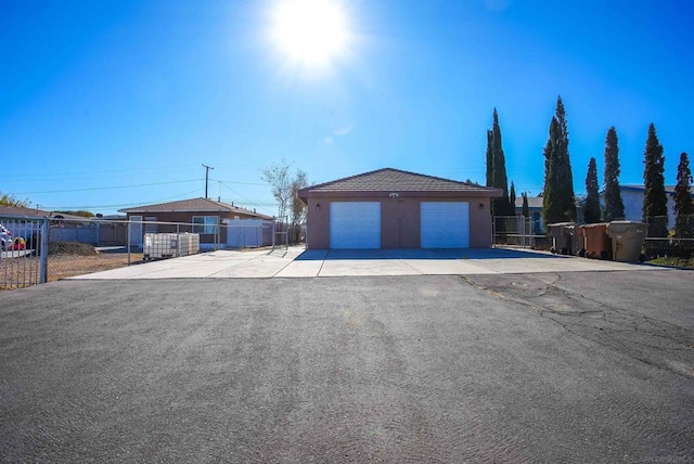
[[470, 246], [491, 246], [491, 216], [489, 197], [441, 196], [422, 194], [399, 195], [390, 198], [387, 193], [369, 196], [309, 197], [307, 210], [306, 246], [311, 249], [330, 248], [330, 204], [332, 202], [381, 202], [381, 247], [420, 247], [421, 202], [470, 202]]

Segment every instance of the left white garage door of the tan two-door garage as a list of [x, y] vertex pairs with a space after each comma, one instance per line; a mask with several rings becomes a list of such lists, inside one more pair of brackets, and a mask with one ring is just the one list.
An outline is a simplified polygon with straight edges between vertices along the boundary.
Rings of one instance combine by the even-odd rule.
[[381, 202], [330, 204], [331, 248], [381, 248]]

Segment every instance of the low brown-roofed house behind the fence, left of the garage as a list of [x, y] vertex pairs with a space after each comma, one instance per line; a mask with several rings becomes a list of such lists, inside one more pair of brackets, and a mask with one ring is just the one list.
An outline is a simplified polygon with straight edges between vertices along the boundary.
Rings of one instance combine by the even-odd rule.
[[[221, 224], [233, 220], [272, 221], [273, 219], [271, 216], [261, 215], [255, 210], [202, 197], [125, 208], [118, 211], [125, 212], [128, 220], [132, 221], [133, 225], [137, 224], [130, 229], [130, 245], [140, 247], [142, 246], [143, 233], [177, 232], [179, 230], [198, 233], [201, 248], [209, 248], [213, 245], [221, 245], [223, 247], [229, 243], [228, 229], [220, 227]], [[153, 223], [147, 224], [147, 222]], [[176, 222], [193, 225], [189, 229], [181, 229], [174, 224], [157, 224], [154, 222]]]

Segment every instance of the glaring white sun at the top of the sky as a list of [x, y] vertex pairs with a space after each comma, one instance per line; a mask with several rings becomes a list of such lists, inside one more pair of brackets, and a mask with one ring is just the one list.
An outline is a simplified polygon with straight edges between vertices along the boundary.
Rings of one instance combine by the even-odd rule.
[[336, 0], [285, 0], [274, 11], [273, 36], [291, 61], [326, 65], [344, 51], [348, 34]]

